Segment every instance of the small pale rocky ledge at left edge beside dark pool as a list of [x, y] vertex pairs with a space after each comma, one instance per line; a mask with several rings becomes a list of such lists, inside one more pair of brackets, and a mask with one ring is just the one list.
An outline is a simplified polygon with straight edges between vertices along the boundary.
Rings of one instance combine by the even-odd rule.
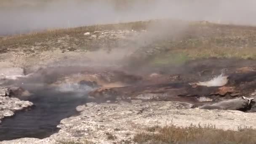
[[4, 117], [11, 117], [14, 112], [33, 105], [30, 101], [21, 101], [18, 98], [10, 97], [11, 93], [10, 89], [0, 87], [0, 120]]

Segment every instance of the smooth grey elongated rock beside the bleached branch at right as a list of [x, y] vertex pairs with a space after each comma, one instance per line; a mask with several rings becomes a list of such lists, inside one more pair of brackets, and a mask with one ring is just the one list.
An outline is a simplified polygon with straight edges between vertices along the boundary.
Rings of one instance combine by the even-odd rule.
[[[246, 110], [249, 107], [249, 102], [243, 98], [229, 99], [215, 104], [206, 104], [200, 109], [229, 109], [229, 110]], [[248, 109], [247, 109], [248, 110]]]

